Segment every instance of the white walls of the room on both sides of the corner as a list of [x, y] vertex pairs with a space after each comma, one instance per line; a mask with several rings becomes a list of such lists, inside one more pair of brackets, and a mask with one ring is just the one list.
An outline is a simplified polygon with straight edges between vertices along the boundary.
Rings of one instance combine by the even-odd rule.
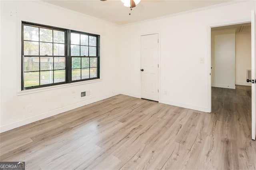
[[[4, 1], [1, 6], [3, 132], [120, 92], [140, 97], [140, 36], [154, 33], [160, 35], [160, 102], [210, 111], [210, 26], [248, 22], [255, 5], [234, 2], [122, 27], [43, 2]], [[102, 79], [20, 92], [21, 20], [100, 34]], [[92, 95], [81, 99], [85, 90]]]

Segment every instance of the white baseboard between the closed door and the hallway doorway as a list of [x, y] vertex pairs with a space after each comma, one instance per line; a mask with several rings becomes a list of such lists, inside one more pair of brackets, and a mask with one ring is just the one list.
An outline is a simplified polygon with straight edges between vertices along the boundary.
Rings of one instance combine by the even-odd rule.
[[186, 109], [192, 109], [192, 110], [196, 110], [196, 111], [202, 111], [202, 112], [206, 112], [206, 113], [210, 113], [210, 109], [207, 107], [202, 107], [202, 106], [196, 106], [196, 105], [190, 105], [190, 104], [186, 104], [186, 103], [180, 103], [180, 102], [176, 102], [176, 101], [169, 101], [169, 100], [160, 100], [159, 103], [163, 103], [163, 104], [167, 104], [167, 105], [173, 105], [173, 106], [178, 106], [178, 107], [183, 107]]

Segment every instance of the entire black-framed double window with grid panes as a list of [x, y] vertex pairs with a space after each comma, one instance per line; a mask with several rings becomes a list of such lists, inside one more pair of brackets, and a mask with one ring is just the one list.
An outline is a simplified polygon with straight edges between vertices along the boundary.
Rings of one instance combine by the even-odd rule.
[[100, 78], [99, 35], [22, 22], [22, 90]]

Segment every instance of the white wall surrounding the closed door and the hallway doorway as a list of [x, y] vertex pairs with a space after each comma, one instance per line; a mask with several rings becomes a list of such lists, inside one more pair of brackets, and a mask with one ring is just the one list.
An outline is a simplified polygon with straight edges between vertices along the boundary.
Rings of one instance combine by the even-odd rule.
[[140, 97], [140, 36], [159, 33], [159, 101], [210, 112], [210, 26], [248, 22], [254, 7], [253, 1], [234, 2], [123, 26], [121, 93]]

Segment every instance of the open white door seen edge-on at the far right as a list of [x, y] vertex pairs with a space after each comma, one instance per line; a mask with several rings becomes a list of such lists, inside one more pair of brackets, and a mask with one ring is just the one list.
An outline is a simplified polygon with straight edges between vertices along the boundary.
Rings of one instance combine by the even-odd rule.
[[256, 16], [255, 12], [252, 11], [252, 139], [255, 140], [256, 136], [256, 105], [255, 105], [255, 96], [256, 96], [256, 52], [255, 52], [255, 38], [256, 38]]

